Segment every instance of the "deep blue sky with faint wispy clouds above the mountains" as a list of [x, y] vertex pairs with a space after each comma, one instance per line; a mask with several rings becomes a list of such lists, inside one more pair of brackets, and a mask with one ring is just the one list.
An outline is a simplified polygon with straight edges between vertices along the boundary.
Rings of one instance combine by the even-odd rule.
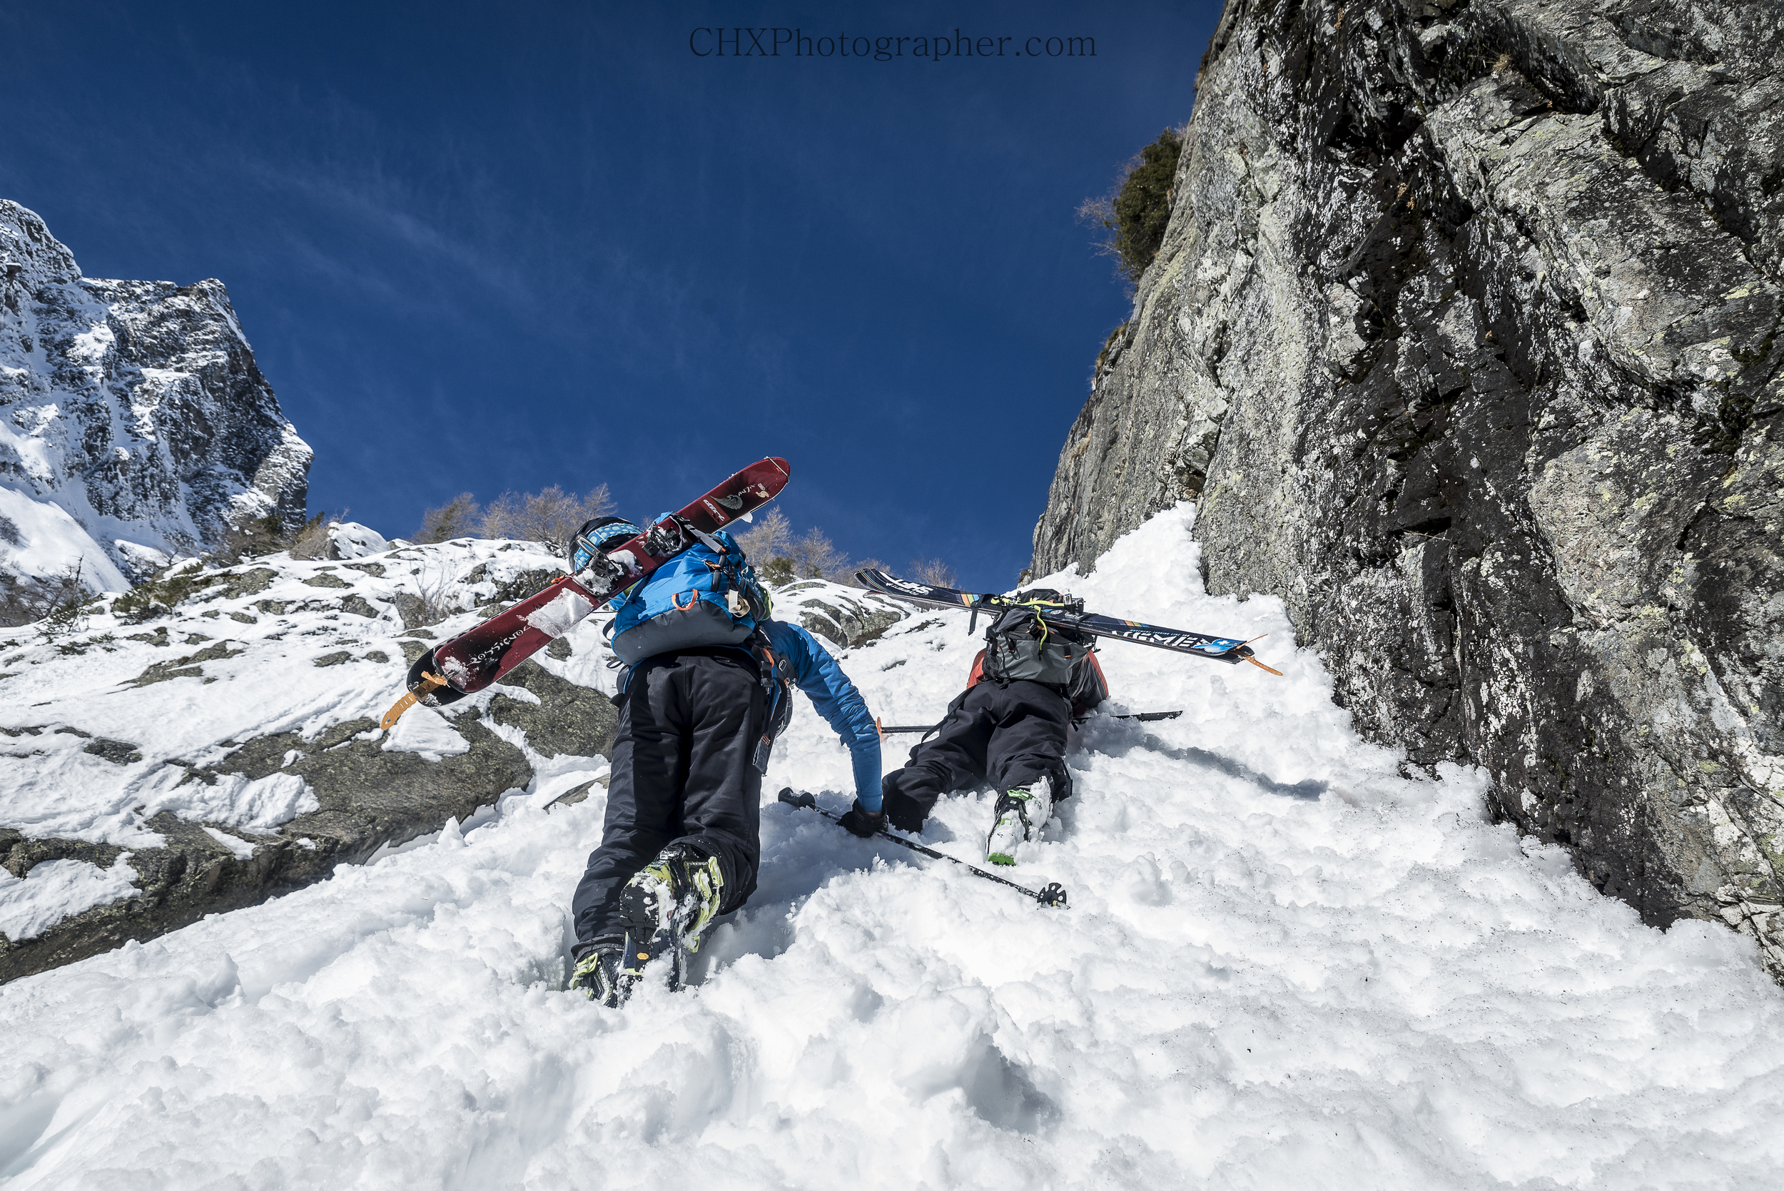
[[[651, 515], [785, 455], [796, 528], [1003, 588], [1127, 314], [1074, 209], [1188, 119], [1217, 16], [9, 5], [0, 196], [91, 276], [228, 285], [312, 510], [401, 535], [605, 481]], [[814, 53], [690, 45], [721, 21]], [[1004, 55], [815, 53], [956, 29]]]

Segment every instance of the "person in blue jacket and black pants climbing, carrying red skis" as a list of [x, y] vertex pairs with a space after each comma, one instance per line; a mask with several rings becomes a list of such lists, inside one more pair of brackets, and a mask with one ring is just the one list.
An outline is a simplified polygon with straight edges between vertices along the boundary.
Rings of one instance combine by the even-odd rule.
[[[571, 571], [585, 562], [578, 549], [635, 533], [617, 517], [587, 522]], [[614, 695], [601, 845], [571, 902], [571, 986], [607, 1006], [626, 1000], [646, 965], [678, 986], [712, 918], [755, 891], [762, 774], [796, 685], [853, 754], [851, 815], [885, 822], [880, 729], [860, 692], [810, 633], [769, 617], [767, 592], [728, 533], [689, 538], [653, 544], [680, 553], [614, 599], [612, 649], [630, 669]]]

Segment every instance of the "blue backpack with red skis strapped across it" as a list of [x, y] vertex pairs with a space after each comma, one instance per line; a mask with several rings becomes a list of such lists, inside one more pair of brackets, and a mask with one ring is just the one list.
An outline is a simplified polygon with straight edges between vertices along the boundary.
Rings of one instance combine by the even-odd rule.
[[744, 551], [724, 530], [653, 571], [614, 601], [614, 654], [626, 665], [698, 645], [742, 645], [772, 604]]

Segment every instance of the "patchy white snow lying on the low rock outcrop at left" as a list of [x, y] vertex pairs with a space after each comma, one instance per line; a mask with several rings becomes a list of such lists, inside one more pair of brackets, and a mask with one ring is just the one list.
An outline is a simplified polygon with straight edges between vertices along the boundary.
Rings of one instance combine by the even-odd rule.
[[[37, 638], [30, 626], [0, 631], [0, 763], [9, 786], [0, 827], [30, 838], [152, 847], [162, 840], [150, 820], [173, 811], [269, 833], [316, 809], [303, 781], [273, 774], [203, 784], [189, 770], [255, 736], [296, 731], [314, 738], [344, 720], [378, 719], [401, 692], [403, 642], [416, 637], [403, 629], [400, 599], [432, 596], [462, 610], [423, 633], [451, 637], [476, 624], [473, 608], [492, 599], [500, 583], [558, 569], [557, 556], [537, 544], [478, 538], [407, 546], [357, 563], [284, 553], [223, 571], [193, 562], [186, 574], [216, 581], [171, 615], [134, 624], [109, 599], [59, 642]], [[467, 574], [476, 581], [466, 581]], [[592, 638], [589, 645], [592, 656]], [[564, 669], [549, 656], [541, 665]], [[580, 669], [591, 670], [585, 683], [599, 681], [599, 667]], [[466, 701], [455, 715], [487, 704], [487, 697]], [[123, 742], [127, 756], [96, 756], [93, 738]], [[467, 749], [426, 708], [398, 722], [385, 747]], [[0, 875], [0, 897], [5, 881]]]

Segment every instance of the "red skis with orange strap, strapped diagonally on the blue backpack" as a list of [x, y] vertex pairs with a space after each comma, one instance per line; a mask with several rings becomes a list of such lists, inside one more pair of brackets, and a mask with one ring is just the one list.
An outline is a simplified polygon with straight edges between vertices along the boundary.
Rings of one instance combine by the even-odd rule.
[[664, 565], [683, 547], [762, 508], [792, 476], [783, 458], [751, 464], [678, 513], [644, 526], [637, 537], [594, 556], [576, 574], [567, 574], [537, 596], [498, 612], [475, 629], [441, 642], [409, 667], [409, 694], [384, 713], [391, 727], [416, 702], [453, 702], [483, 690], [578, 620]]

